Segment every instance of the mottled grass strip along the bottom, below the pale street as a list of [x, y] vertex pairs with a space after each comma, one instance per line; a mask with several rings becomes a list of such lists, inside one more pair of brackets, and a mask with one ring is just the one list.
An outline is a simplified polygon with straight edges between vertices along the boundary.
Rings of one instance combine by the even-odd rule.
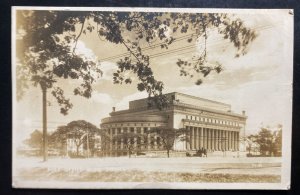
[[158, 172], [140, 170], [66, 171], [49, 170], [47, 168], [20, 169], [19, 171], [18, 178], [27, 181], [280, 183], [280, 175]]

